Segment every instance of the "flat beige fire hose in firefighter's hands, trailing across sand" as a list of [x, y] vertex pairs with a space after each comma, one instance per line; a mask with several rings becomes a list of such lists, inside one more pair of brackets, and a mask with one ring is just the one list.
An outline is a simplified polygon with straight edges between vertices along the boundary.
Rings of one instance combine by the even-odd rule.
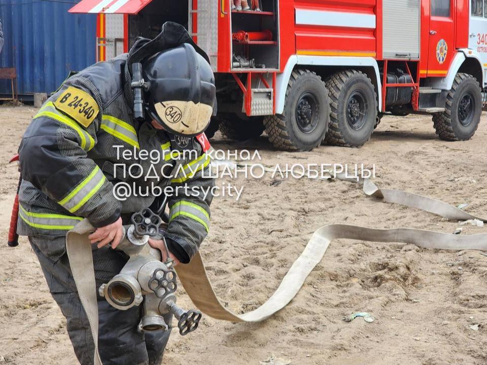
[[[337, 176], [337, 178], [355, 182], [355, 180], [343, 175]], [[370, 179], [364, 179], [360, 182], [363, 184], [365, 195], [382, 198], [382, 201], [387, 203], [421, 209], [449, 220], [478, 219], [487, 222], [484, 218], [476, 217], [435, 199], [399, 190], [379, 189]], [[68, 232], [66, 236], [66, 251], [78, 293], [91, 326], [95, 343], [94, 364], [100, 365], [101, 361], [97, 350], [98, 307], [96, 304], [96, 285], [91, 245], [88, 240], [88, 235], [92, 231], [93, 227], [88, 220], [81, 221], [73, 230]], [[188, 296], [201, 312], [216, 319], [232, 322], [259, 322], [283, 309], [296, 296], [306, 277], [322, 261], [330, 242], [339, 238], [384, 243], [401, 242], [415, 244], [428, 249], [487, 250], [487, 234], [454, 235], [412, 228], [373, 229], [344, 224], [323, 226], [311, 236], [303, 252], [284, 276], [274, 294], [260, 307], [244, 314], [235, 314], [222, 305], [206, 274], [199, 252], [196, 253], [189, 264], [178, 265], [175, 269]], [[168, 310], [166, 307], [162, 309]]]

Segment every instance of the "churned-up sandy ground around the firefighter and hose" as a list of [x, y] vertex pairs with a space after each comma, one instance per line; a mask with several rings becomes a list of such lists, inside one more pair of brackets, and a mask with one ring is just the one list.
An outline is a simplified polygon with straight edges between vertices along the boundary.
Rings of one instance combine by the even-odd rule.
[[[65, 320], [49, 295], [27, 240], [7, 247], [17, 169], [7, 161], [36, 112], [1, 107], [0, 363], [76, 363]], [[430, 117], [385, 118], [361, 149], [323, 146], [310, 153], [274, 151], [264, 137], [231, 148], [258, 149], [263, 163], [364, 163], [375, 181], [428, 195], [487, 216], [487, 118], [475, 137], [436, 138]], [[217, 135], [217, 149], [230, 144]], [[454, 232], [458, 222], [365, 197], [355, 184], [317, 179], [238, 179], [238, 202], [216, 198], [201, 247], [218, 295], [234, 311], [252, 310], [279, 285], [312, 232], [329, 223]], [[221, 183], [222, 181], [219, 181]], [[462, 234], [485, 233], [464, 227]], [[170, 364], [485, 364], [487, 257], [476, 251], [429, 251], [404, 244], [332, 243], [325, 259], [284, 310], [259, 324], [205, 316], [197, 332], [173, 334]], [[180, 291], [180, 303], [191, 307]], [[367, 311], [376, 319], [345, 323]], [[474, 331], [470, 325], [480, 324]], [[269, 360], [271, 357], [276, 360]], [[268, 361], [266, 361], [268, 360]]]

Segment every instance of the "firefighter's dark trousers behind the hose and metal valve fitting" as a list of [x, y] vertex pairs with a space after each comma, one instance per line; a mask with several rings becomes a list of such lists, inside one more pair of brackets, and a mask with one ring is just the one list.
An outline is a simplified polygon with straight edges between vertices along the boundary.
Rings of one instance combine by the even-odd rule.
[[[76, 291], [65, 250], [65, 237], [36, 236], [29, 242], [39, 259], [52, 297], [66, 317], [66, 329], [82, 365], [92, 365], [93, 338]], [[127, 262], [124, 253], [93, 245], [96, 287], [118, 274]], [[164, 316], [168, 331], [139, 332], [141, 307], [121, 311], [98, 297], [98, 349], [103, 365], [158, 365], [170, 335], [172, 314]]]

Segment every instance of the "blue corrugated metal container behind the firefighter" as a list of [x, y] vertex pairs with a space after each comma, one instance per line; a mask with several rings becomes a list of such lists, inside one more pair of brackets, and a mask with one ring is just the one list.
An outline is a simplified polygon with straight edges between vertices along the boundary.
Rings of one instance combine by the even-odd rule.
[[[96, 14], [68, 13], [76, 3], [0, 0], [5, 39], [0, 67], [17, 68], [22, 99], [57, 90], [69, 71], [96, 61]], [[11, 94], [10, 81], [0, 81], [0, 94]]]

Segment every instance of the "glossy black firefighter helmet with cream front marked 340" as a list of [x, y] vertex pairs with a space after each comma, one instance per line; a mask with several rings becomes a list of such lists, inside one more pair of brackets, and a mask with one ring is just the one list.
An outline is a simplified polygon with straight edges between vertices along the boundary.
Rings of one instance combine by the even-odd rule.
[[196, 136], [213, 114], [215, 76], [203, 56], [188, 43], [164, 50], [142, 63], [146, 111], [170, 133]]

